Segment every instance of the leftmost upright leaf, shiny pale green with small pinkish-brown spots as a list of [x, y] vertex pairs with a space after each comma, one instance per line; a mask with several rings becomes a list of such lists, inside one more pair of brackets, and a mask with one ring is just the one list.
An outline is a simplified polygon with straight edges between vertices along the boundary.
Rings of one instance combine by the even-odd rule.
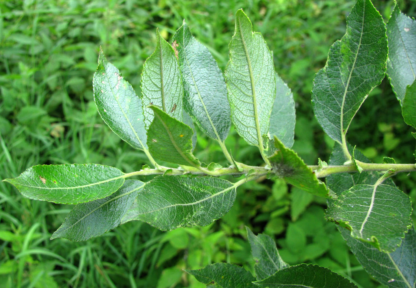
[[147, 149], [141, 99], [100, 48], [92, 80], [94, 100], [104, 122], [136, 149]]

